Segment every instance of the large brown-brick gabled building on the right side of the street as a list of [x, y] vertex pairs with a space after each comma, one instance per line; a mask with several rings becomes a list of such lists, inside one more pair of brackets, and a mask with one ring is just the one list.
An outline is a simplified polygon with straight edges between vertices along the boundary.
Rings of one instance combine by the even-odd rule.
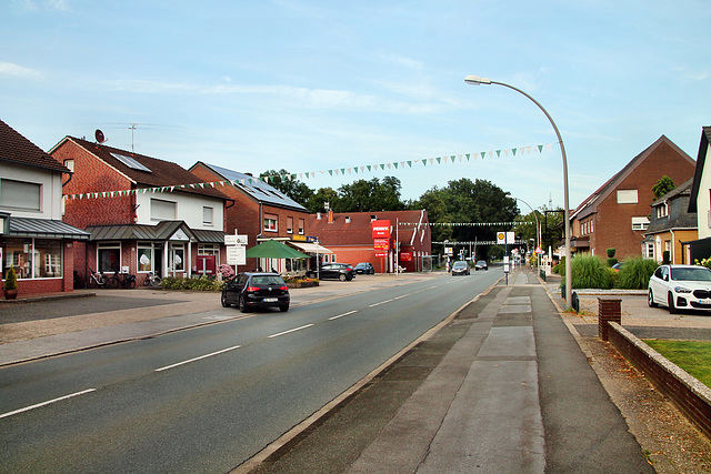
[[618, 260], [642, 254], [654, 201], [652, 188], [664, 175], [683, 183], [693, 175], [694, 167], [691, 157], [660, 137], [572, 213], [572, 252], [607, 259], [607, 249], [615, 249]]

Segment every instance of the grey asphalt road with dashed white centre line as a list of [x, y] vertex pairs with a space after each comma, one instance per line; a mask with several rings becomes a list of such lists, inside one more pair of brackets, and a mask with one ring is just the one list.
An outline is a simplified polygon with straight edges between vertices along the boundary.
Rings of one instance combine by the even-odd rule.
[[498, 276], [421, 281], [3, 367], [0, 471], [229, 471]]

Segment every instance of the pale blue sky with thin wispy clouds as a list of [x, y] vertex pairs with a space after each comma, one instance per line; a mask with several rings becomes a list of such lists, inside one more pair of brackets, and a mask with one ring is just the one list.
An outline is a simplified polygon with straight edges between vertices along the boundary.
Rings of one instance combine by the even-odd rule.
[[100, 129], [314, 190], [481, 179], [528, 213], [564, 206], [554, 129], [469, 74], [545, 108], [571, 209], [661, 135], [695, 160], [711, 125], [708, 0], [0, 3], [0, 120], [46, 151]]

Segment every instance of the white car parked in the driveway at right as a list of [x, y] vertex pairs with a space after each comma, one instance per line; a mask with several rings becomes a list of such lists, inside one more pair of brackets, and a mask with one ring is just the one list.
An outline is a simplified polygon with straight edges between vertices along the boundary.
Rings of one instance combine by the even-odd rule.
[[649, 280], [651, 307], [711, 310], [711, 270], [700, 265], [660, 265]]

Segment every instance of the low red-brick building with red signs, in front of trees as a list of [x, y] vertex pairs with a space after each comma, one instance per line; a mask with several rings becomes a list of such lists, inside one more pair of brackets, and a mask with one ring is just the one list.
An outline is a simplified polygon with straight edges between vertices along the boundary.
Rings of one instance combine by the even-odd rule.
[[[432, 255], [432, 233], [427, 211], [341, 212], [311, 214], [311, 234], [333, 253], [331, 262], [370, 262], [375, 272], [393, 272], [399, 263], [408, 272], [423, 270], [423, 261]], [[377, 249], [373, 222], [390, 221], [388, 250]], [[400, 251], [397, 251], [398, 243]], [[384, 258], [377, 256], [385, 253]]]

